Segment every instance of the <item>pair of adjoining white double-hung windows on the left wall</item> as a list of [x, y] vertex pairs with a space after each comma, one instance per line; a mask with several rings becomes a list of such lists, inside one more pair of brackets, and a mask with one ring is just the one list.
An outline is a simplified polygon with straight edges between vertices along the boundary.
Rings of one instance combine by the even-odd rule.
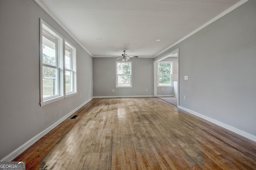
[[76, 94], [76, 48], [40, 20], [40, 106]]

